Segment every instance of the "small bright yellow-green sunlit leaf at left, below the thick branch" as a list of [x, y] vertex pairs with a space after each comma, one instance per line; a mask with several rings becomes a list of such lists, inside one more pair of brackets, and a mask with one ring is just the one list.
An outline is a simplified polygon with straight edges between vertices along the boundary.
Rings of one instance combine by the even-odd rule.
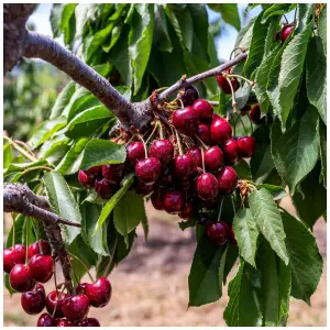
[[32, 150], [36, 148], [65, 125], [65, 117], [58, 117], [52, 120], [44, 121], [41, 125], [36, 128], [32, 138], [28, 141], [28, 145]]

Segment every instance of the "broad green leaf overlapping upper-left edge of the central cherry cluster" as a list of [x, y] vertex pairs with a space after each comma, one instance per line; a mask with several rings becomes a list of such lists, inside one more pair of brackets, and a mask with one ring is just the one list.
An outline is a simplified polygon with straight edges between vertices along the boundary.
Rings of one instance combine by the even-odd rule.
[[125, 147], [112, 141], [91, 139], [88, 141], [84, 157], [81, 161], [81, 169], [103, 164], [120, 164], [125, 161]]

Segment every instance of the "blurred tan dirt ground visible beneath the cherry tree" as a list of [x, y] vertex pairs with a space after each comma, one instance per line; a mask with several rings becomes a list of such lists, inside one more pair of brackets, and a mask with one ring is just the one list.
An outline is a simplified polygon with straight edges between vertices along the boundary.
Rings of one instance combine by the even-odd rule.
[[[288, 201], [284, 205], [289, 207]], [[89, 316], [97, 317], [103, 327], [226, 326], [222, 312], [228, 302], [227, 288], [219, 301], [187, 310], [187, 278], [196, 246], [193, 232], [179, 230], [176, 217], [150, 208], [148, 219], [148, 242], [145, 243], [139, 228], [130, 256], [109, 277], [113, 286], [110, 305], [103, 309], [92, 308]], [[311, 307], [292, 298], [288, 326], [327, 326], [327, 226], [323, 219], [318, 220], [315, 234], [324, 260], [323, 274], [311, 297]], [[51, 288], [52, 285], [46, 286], [46, 290]], [[37, 316], [22, 311], [19, 295], [10, 298], [6, 290], [4, 326], [35, 326], [36, 319]]]

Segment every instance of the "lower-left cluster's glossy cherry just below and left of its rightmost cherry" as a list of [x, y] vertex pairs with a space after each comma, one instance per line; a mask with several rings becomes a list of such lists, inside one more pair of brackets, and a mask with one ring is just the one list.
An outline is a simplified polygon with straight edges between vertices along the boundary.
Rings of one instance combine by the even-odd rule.
[[79, 294], [66, 298], [63, 301], [62, 311], [64, 316], [67, 318], [67, 320], [70, 322], [82, 321], [89, 311], [89, 300], [87, 295]]

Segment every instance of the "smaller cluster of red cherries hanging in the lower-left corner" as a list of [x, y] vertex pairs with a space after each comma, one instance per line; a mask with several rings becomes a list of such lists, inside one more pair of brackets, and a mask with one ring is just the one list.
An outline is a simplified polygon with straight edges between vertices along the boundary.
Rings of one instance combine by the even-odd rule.
[[40, 240], [26, 249], [15, 244], [3, 251], [3, 271], [9, 274], [11, 287], [22, 293], [21, 305], [29, 315], [47, 312], [40, 316], [37, 327], [100, 327], [95, 318], [88, 318], [89, 307], [105, 307], [111, 298], [111, 284], [106, 277], [95, 283], [80, 283], [75, 294], [69, 295], [57, 289], [47, 296], [44, 283], [54, 274], [54, 261], [51, 245]]

